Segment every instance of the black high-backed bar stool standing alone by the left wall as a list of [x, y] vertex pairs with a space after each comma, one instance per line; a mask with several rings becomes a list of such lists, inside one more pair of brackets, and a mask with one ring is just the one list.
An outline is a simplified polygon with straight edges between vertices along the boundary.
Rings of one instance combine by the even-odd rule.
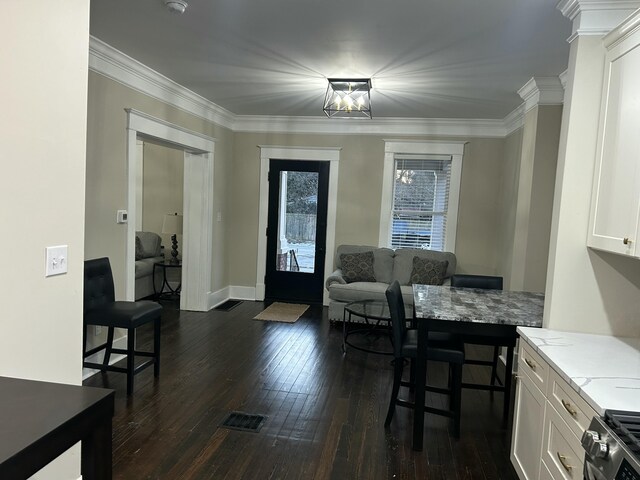
[[[160, 314], [162, 306], [156, 302], [141, 300], [137, 302], [116, 301], [113, 287], [113, 274], [108, 258], [96, 258], [84, 262], [84, 328], [82, 336], [83, 366], [102, 372], [121, 372], [127, 374], [127, 395], [133, 393], [133, 377], [145, 368], [153, 365], [153, 374], [160, 374]], [[135, 349], [136, 329], [153, 322], [153, 352]], [[87, 351], [87, 326], [107, 327], [107, 341]], [[127, 348], [113, 348], [115, 328], [127, 330]], [[87, 357], [104, 350], [102, 363], [85, 360]], [[127, 357], [126, 368], [110, 365], [112, 353]], [[135, 357], [150, 357], [149, 360], [135, 366]]]

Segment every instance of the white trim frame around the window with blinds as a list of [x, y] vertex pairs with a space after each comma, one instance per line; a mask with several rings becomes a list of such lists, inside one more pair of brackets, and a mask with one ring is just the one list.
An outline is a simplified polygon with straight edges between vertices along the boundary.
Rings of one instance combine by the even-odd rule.
[[455, 252], [458, 224], [458, 205], [460, 200], [460, 182], [462, 180], [462, 156], [465, 141], [384, 141], [384, 166], [382, 177], [382, 201], [380, 205], [380, 233], [378, 246], [388, 247], [391, 237], [391, 207], [393, 203], [393, 181], [395, 178], [395, 156], [402, 154], [450, 155], [451, 178], [449, 179], [449, 199], [447, 210], [447, 230], [444, 249]]

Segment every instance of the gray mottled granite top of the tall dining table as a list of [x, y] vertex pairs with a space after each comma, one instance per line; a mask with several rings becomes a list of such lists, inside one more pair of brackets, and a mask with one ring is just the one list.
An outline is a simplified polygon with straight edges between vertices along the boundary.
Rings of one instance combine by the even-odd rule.
[[414, 285], [416, 318], [541, 327], [544, 295], [508, 290]]

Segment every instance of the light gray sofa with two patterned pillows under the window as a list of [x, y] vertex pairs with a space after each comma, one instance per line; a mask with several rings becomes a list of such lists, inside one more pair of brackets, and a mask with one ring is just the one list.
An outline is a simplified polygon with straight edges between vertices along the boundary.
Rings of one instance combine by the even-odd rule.
[[[348, 282], [342, 271], [342, 254], [373, 252], [373, 273], [375, 281]], [[325, 286], [329, 290], [329, 320], [342, 321], [344, 306], [356, 300], [386, 301], [385, 290], [389, 284], [398, 280], [402, 289], [407, 311], [413, 308], [413, 293], [410, 278], [413, 273], [413, 258], [446, 260], [443, 284], [450, 283], [456, 271], [456, 256], [451, 252], [437, 252], [415, 248], [378, 248], [367, 245], [340, 245], [336, 252], [336, 270], [327, 278]], [[357, 320], [357, 318], [353, 318]]]

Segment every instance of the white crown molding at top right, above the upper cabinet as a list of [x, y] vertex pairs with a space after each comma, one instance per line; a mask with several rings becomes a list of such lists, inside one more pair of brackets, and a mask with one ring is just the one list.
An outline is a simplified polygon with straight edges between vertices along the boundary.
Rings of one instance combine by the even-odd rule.
[[603, 36], [640, 7], [638, 0], [562, 0], [557, 9], [572, 21], [571, 43], [578, 36]]

